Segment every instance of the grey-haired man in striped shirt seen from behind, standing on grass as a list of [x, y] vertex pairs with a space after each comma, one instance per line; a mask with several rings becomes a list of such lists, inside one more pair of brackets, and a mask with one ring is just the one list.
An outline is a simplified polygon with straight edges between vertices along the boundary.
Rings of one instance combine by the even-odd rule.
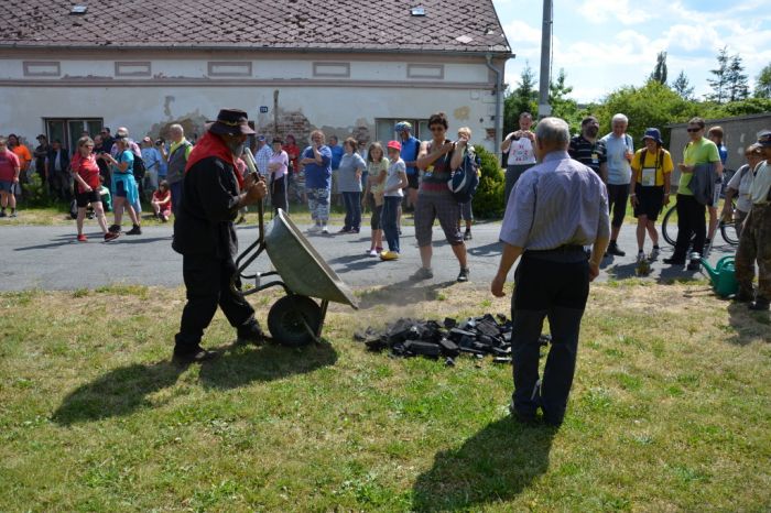
[[[535, 129], [541, 164], [517, 182], [501, 227], [503, 254], [490, 290], [502, 297], [509, 270], [514, 273], [512, 360], [514, 393], [510, 411], [522, 422], [539, 407], [550, 425], [565, 416], [578, 350], [578, 332], [589, 282], [610, 238], [608, 194], [600, 177], [567, 153], [569, 130], [558, 118]], [[594, 244], [589, 260], [584, 245]], [[552, 347], [539, 379], [539, 337], [549, 317]]]

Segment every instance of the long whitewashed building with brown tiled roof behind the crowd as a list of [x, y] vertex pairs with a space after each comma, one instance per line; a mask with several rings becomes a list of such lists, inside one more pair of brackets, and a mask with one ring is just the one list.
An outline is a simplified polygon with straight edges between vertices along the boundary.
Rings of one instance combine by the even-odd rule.
[[300, 144], [384, 141], [402, 119], [427, 139], [439, 110], [490, 150], [502, 137], [513, 55], [491, 0], [26, 0], [0, 20], [0, 133], [28, 143], [176, 122], [194, 137], [222, 107]]

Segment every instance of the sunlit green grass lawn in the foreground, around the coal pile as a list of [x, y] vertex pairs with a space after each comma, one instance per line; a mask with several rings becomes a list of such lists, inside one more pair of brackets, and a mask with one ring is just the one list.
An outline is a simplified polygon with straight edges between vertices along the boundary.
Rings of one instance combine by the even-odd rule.
[[[169, 362], [184, 294], [0, 294], [0, 511], [769, 511], [768, 314], [702, 283], [593, 287], [565, 424], [507, 415], [489, 359], [351, 341], [403, 315], [506, 313], [473, 284], [360, 292], [328, 343]], [[276, 296], [252, 296], [262, 318]]]

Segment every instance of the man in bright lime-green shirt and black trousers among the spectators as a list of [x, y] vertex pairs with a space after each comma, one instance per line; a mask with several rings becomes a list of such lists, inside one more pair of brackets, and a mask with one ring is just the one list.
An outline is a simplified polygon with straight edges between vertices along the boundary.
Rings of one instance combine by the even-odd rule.
[[688, 263], [688, 271], [698, 271], [699, 259], [702, 253], [704, 253], [704, 240], [707, 237], [706, 206], [696, 200], [693, 190], [689, 188], [694, 168], [702, 164], [714, 164], [717, 175], [723, 173], [720, 154], [715, 143], [704, 137], [705, 127], [706, 123], [702, 118], [693, 118], [688, 121], [689, 142], [683, 150], [683, 162], [677, 164], [680, 168], [680, 184], [677, 185], [677, 241], [675, 242], [672, 258], [664, 259], [664, 263], [667, 264], [685, 265], [686, 253], [693, 238], [694, 258]]

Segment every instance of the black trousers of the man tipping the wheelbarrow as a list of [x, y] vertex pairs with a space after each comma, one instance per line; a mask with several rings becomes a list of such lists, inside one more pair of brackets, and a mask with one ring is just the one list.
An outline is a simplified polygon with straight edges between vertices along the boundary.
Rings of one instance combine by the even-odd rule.
[[[246, 299], [230, 291], [230, 277], [235, 272], [232, 258], [183, 256], [182, 274], [187, 290], [187, 304], [182, 310], [175, 351], [192, 351], [200, 343], [204, 329], [211, 323], [217, 306], [235, 328], [252, 321], [254, 309]], [[240, 281], [238, 283], [240, 285]]]

